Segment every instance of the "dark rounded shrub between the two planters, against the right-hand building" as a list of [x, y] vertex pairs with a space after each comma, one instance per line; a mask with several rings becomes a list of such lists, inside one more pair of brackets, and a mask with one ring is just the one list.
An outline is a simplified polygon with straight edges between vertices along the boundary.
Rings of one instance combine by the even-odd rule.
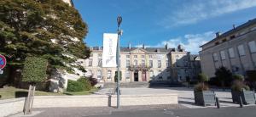
[[216, 70], [215, 75], [223, 88], [224, 86], [230, 86], [232, 81], [232, 73], [230, 70], [222, 66]]

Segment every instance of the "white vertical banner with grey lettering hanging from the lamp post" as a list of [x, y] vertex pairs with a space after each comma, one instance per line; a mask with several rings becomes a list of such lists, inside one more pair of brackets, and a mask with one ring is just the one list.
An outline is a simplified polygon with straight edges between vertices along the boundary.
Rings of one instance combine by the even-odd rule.
[[116, 33], [103, 34], [102, 67], [117, 67], [117, 64], [116, 64], [117, 41], [118, 41], [118, 34]]

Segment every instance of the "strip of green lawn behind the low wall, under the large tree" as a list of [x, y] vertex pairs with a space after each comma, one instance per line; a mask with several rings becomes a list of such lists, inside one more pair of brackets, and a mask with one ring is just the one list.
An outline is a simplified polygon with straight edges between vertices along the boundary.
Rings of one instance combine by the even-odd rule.
[[[63, 92], [63, 93], [53, 93], [53, 92], [42, 92], [36, 91], [36, 96], [67, 96], [67, 95], [89, 95], [93, 92], [96, 92], [98, 89], [93, 88], [90, 91], [84, 92]], [[0, 99], [8, 99], [8, 98], [15, 98], [15, 97], [26, 97], [27, 90], [26, 89], [19, 89], [12, 86], [0, 88]]]

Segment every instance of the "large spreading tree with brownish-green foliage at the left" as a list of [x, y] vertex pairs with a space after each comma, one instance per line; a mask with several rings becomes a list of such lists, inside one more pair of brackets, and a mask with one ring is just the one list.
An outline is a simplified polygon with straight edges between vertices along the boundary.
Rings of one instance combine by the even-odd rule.
[[48, 70], [71, 72], [65, 64], [90, 56], [84, 43], [87, 25], [61, 0], [1, 0], [0, 29], [0, 53], [13, 72], [23, 68], [28, 56], [46, 58]]

